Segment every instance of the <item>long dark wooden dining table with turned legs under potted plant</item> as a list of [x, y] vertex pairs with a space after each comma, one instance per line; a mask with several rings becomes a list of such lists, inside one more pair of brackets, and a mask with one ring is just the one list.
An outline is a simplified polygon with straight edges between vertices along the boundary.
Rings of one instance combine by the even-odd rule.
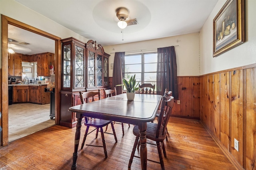
[[78, 158], [78, 145], [80, 141], [81, 122], [83, 117], [118, 121], [138, 125], [140, 129], [140, 161], [142, 170], [147, 169], [146, 129], [147, 122], [156, 117], [161, 101], [160, 95], [135, 94], [133, 101], [128, 101], [126, 94], [119, 94], [110, 98], [72, 106], [68, 110], [76, 112], [77, 124], [74, 140], [73, 164], [76, 169]]

